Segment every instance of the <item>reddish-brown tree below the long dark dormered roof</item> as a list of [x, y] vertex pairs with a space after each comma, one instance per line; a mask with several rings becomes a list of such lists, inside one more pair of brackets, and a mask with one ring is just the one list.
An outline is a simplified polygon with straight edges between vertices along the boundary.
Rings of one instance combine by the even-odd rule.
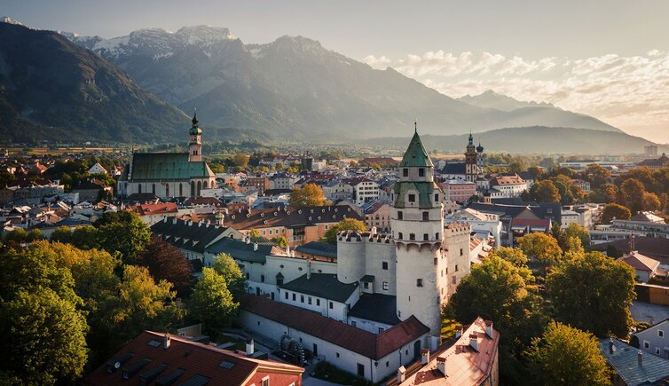
[[178, 294], [190, 288], [193, 267], [180, 250], [159, 237], [154, 237], [138, 256], [138, 264], [148, 268], [154, 280], [167, 280]]

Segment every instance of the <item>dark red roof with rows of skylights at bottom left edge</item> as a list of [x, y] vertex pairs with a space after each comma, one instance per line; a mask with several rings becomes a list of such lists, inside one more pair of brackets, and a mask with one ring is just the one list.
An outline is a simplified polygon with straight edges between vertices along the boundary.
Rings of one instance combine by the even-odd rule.
[[[169, 335], [169, 337], [169, 349], [165, 349], [163, 347], [163, 334], [150, 331], [143, 332], [132, 342], [126, 344], [113, 358], [110, 358], [110, 363], [113, 363], [117, 358], [122, 358], [130, 353], [134, 354], [128, 362], [121, 365], [121, 368], [110, 374], [107, 372], [107, 365], [104, 364], [86, 376], [81, 383], [83, 385], [138, 384], [141, 374], [145, 374], [161, 364], [165, 364], [167, 367], [155, 380], [177, 369], [185, 370], [185, 373], [178, 377], [177, 383], [185, 382], [193, 375], [200, 374], [210, 379], [209, 384], [240, 385], [248, 380], [259, 366], [270, 373], [272, 373], [272, 369], [277, 372], [289, 372], [295, 375], [304, 371], [302, 367], [273, 360], [247, 358], [237, 352], [216, 349], [216, 346], [203, 343], [194, 343], [177, 335]], [[150, 345], [149, 343], [152, 341], [159, 343], [158, 346]], [[136, 374], [133, 374], [130, 380], [124, 380], [123, 369], [138, 363], [144, 358], [151, 361]], [[230, 368], [221, 366], [224, 361], [229, 362], [232, 366]]]

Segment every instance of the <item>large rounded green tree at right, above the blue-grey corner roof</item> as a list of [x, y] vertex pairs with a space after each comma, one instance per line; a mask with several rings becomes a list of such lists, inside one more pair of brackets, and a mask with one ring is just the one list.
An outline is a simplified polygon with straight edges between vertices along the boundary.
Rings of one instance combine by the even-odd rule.
[[603, 337], [626, 337], [632, 325], [634, 269], [599, 252], [565, 262], [548, 274], [555, 319]]

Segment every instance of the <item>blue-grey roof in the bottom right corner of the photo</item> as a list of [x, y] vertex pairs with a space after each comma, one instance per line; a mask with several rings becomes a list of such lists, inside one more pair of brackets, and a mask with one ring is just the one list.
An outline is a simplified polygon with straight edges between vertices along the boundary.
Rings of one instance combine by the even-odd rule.
[[600, 340], [602, 355], [629, 386], [649, 385], [669, 377], [669, 360], [648, 352], [642, 353], [643, 366], [639, 366], [639, 349], [627, 343], [613, 340], [613, 353], [609, 350], [609, 339]]

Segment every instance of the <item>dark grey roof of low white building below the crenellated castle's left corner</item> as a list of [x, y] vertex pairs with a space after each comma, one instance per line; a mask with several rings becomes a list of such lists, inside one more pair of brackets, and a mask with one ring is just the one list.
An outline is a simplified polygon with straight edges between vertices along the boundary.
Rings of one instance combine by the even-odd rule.
[[311, 273], [311, 279], [307, 279], [305, 273], [299, 278], [280, 286], [280, 288], [288, 291], [319, 296], [339, 303], [345, 303], [350, 295], [358, 290], [358, 287], [358, 283], [342, 283], [337, 280], [337, 275], [333, 273]]

